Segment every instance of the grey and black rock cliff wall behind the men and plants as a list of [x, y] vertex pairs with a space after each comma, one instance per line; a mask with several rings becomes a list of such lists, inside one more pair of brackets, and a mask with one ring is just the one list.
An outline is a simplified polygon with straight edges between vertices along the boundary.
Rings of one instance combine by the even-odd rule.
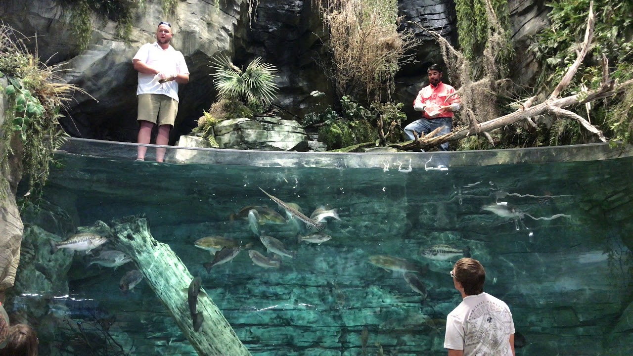
[[[177, 2], [175, 13], [163, 14], [161, 1], [147, 0], [135, 10], [131, 43], [116, 35], [116, 23], [97, 15], [92, 18], [94, 30], [91, 45], [77, 51], [77, 39], [72, 35], [70, 18], [76, 11], [60, 0], [6, 0], [0, 4], [5, 23], [27, 36], [37, 34], [29, 46], [49, 64], [68, 61], [61, 77], [89, 92], [94, 99], [77, 96], [69, 104], [68, 118], [63, 121], [72, 136], [132, 141], [136, 139], [136, 72], [131, 58], [146, 42], [154, 41], [156, 24], [161, 20], [172, 23], [173, 46], [181, 51], [191, 80], [180, 88], [180, 110], [172, 142], [187, 134], [196, 125], [202, 110], [215, 101], [216, 92], [207, 67], [212, 56], [225, 53], [243, 65], [256, 56], [279, 68], [279, 104], [287, 112], [285, 118], [303, 117], [310, 106], [310, 92], [330, 92], [325, 73], [320, 67], [327, 33], [311, 1], [262, 0], [248, 19], [248, 5], [242, 0], [186, 0]], [[510, 1], [513, 34], [518, 51], [524, 51], [529, 35], [544, 25], [541, 0]], [[420, 23], [442, 35], [456, 39], [454, 4], [450, 0], [401, 0], [399, 10], [404, 22]], [[425, 68], [441, 61], [437, 44], [418, 27], [405, 25], [423, 39], [415, 50], [417, 63], [407, 65], [398, 73], [395, 101], [410, 103], [425, 85]], [[35, 43], [37, 42], [37, 44]], [[513, 63], [518, 78], [529, 81], [536, 64], [529, 56], [517, 56]], [[525, 71], [529, 73], [525, 73]], [[96, 99], [96, 100], [95, 100]], [[417, 115], [408, 108], [410, 118]]]

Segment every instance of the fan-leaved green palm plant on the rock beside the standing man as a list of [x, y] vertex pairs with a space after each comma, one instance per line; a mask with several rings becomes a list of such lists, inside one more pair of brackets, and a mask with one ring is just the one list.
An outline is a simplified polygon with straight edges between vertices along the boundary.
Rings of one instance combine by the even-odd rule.
[[269, 63], [263, 63], [261, 57], [255, 58], [242, 71], [235, 67], [230, 58], [220, 55], [211, 58], [209, 66], [216, 70], [213, 73], [215, 87], [222, 99], [237, 99], [242, 103], [259, 101], [263, 104], [270, 104], [277, 98], [277, 68]]

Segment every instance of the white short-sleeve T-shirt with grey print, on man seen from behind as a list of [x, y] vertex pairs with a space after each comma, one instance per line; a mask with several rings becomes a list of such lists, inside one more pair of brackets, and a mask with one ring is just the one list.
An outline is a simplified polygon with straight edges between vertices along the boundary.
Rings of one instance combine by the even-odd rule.
[[463, 350], [464, 356], [512, 356], [515, 333], [510, 308], [488, 293], [469, 295], [446, 318], [444, 348]]

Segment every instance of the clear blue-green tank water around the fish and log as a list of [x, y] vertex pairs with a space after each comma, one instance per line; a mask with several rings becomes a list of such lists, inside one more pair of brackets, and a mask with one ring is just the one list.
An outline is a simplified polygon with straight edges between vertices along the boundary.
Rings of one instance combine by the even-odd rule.
[[[199, 152], [194, 164], [156, 164], [134, 162], [134, 146], [74, 144], [58, 155], [61, 166], [44, 190], [44, 200], [66, 217], [25, 213], [27, 229], [60, 234], [146, 215], [154, 238], [202, 277], [253, 355], [363, 355], [363, 327], [367, 355], [376, 355], [378, 345], [385, 355], [445, 355], [443, 323], [461, 299], [449, 270], [459, 257], [436, 261], [420, 253], [438, 244], [468, 247], [486, 267], [485, 291], [508, 303], [524, 337], [517, 355], [633, 350], [627, 321], [633, 319], [633, 158], [591, 159], [603, 146], [434, 158], [213, 150]], [[437, 158], [446, 159], [448, 170], [425, 169]], [[320, 205], [337, 208], [341, 221], [329, 220], [326, 229], [332, 239], [298, 244], [290, 224], [267, 224], [266, 234], [297, 258], [284, 257], [279, 270], [263, 269], [242, 251], [206, 272], [203, 263], [212, 257], [193, 245], [204, 236], [252, 242], [265, 253], [245, 220], [229, 219], [247, 205], [277, 208], [258, 187], [297, 203], [306, 215]], [[495, 203], [530, 216], [482, 209]], [[402, 274], [370, 264], [372, 255], [428, 265], [420, 276], [427, 298]], [[42, 355], [196, 354], [146, 281], [127, 296], [118, 290], [133, 263], [113, 270], [87, 261], [75, 253], [69, 272], [56, 275], [62, 286], [56, 291], [29, 289], [35, 284], [28, 278], [37, 276], [18, 272], [22, 295], [13, 299], [13, 311], [28, 309], [37, 318]]]

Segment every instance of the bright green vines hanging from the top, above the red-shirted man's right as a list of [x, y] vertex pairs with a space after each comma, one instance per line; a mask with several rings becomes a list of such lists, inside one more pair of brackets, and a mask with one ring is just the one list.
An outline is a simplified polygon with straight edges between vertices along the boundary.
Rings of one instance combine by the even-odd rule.
[[[455, 0], [457, 12], [457, 32], [461, 51], [466, 58], [472, 60], [481, 54], [491, 32], [491, 23], [486, 10], [487, 0]], [[508, 58], [512, 52], [510, 32], [510, 11], [508, 2], [504, 0], [489, 0], [496, 13], [499, 25], [505, 29], [507, 46], [499, 58]]]

